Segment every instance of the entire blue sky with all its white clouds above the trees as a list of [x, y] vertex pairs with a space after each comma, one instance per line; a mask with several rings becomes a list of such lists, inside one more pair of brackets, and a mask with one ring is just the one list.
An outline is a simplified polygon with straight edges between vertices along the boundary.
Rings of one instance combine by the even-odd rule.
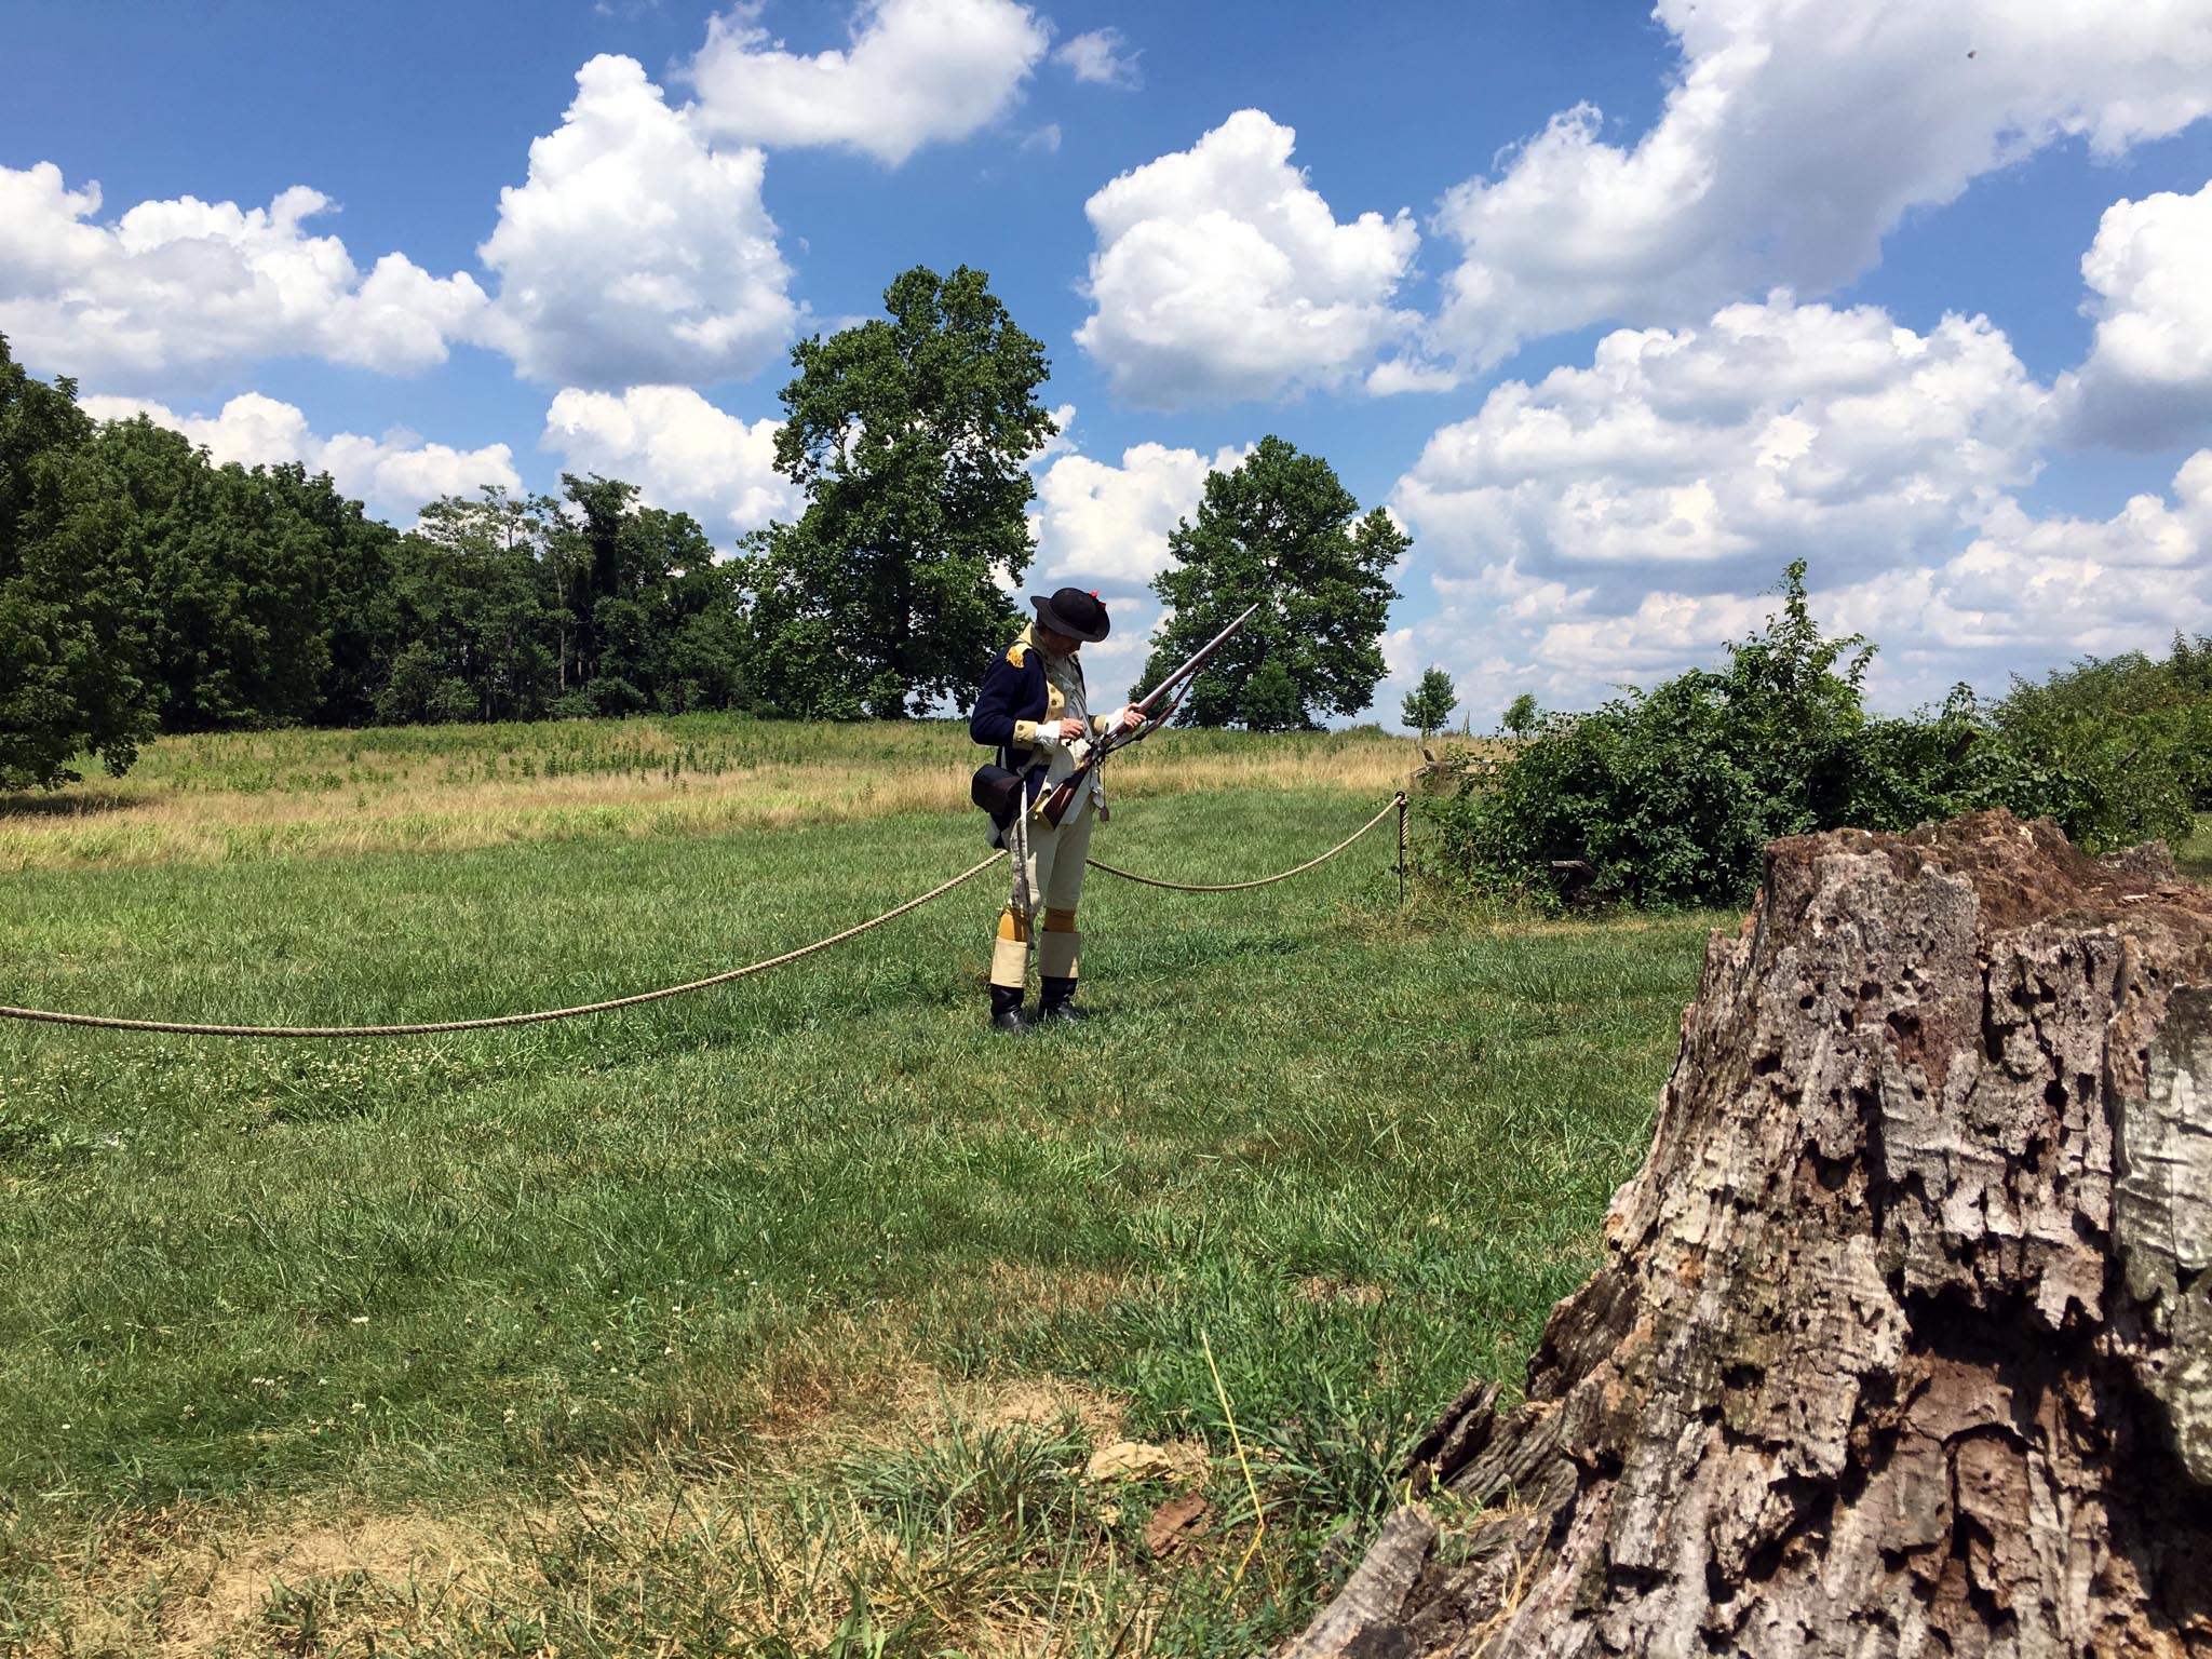
[[980, 265], [1115, 599], [1276, 431], [1413, 533], [1475, 721], [1805, 555], [1909, 706], [2212, 630], [2212, 0], [0, 7], [0, 332], [88, 407], [732, 542], [785, 352]]

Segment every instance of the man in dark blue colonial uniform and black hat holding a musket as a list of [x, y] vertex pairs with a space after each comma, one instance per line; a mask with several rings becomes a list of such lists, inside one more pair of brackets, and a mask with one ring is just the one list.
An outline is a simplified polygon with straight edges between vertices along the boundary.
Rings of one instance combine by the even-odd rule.
[[[1022, 987], [1029, 980], [1029, 945], [1037, 942], [1037, 978], [1042, 998], [1037, 1020], [1075, 1020], [1075, 978], [1082, 971], [1082, 933], [1075, 931], [1075, 905], [1084, 894], [1084, 858], [1091, 849], [1091, 825], [1104, 816], [1106, 790], [1093, 770], [1091, 787], [1079, 790], [1060, 825], [1033, 810], [1040, 794], [1075, 772], [1068, 752], [1079, 739], [1102, 739], [1113, 730], [1135, 730], [1144, 714], [1117, 708], [1093, 714], [1084, 699], [1084, 670], [1077, 653], [1106, 637], [1106, 606], [1097, 593], [1060, 588], [1051, 599], [1031, 595], [1037, 619], [991, 664], [969, 737], [998, 750], [998, 763], [1022, 774], [1022, 801], [1029, 843], [1029, 911], [1006, 900], [998, 918], [998, 942], [991, 949], [991, 1024], [998, 1031], [1024, 1031]], [[1020, 856], [1020, 841], [1009, 847]], [[1015, 883], [1015, 894], [1024, 891]], [[1042, 929], [1035, 907], [1044, 907]]]

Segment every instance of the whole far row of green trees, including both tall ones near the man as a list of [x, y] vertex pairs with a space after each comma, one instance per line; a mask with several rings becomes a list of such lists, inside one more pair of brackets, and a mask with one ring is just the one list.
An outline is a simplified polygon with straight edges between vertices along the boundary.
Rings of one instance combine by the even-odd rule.
[[[967, 697], [1020, 628], [1044, 347], [982, 272], [900, 274], [792, 349], [776, 467], [805, 509], [717, 551], [615, 478], [372, 518], [299, 465], [215, 465], [95, 422], [0, 336], [0, 787], [111, 772], [159, 732], [641, 710], [900, 719]], [[1265, 438], [1206, 480], [1152, 584], [1164, 668], [1252, 599], [1183, 719], [1287, 730], [1383, 679], [1405, 535]]]

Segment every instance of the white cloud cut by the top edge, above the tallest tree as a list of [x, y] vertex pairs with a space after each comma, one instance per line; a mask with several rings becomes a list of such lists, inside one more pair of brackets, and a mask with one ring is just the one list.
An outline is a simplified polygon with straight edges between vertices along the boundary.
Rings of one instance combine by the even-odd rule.
[[1013, 108], [1044, 58], [1044, 22], [1013, 0], [863, 0], [843, 51], [785, 51], [761, 4], [708, 24], [686, 71], [695, 119], [741, 144], [830, 144], [898, 166]]

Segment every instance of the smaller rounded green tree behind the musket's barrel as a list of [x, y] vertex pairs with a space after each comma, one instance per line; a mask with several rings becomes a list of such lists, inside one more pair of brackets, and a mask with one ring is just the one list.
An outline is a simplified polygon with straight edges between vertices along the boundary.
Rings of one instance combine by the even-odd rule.
[[1197, 677], [1181, 719], [1281, 732], [1358, 714], [1385, 675], [1391, 566], [1411, 540], [1380, 507], [1360, 515], [1321, 456], [1261, 438], [1232, 471], [1206, 476], [1194, 520], [1168, 538], [1175, 564], [1152, 591], [1170, 617], [1152, 635], [1150, 686], [1259, 611]]

